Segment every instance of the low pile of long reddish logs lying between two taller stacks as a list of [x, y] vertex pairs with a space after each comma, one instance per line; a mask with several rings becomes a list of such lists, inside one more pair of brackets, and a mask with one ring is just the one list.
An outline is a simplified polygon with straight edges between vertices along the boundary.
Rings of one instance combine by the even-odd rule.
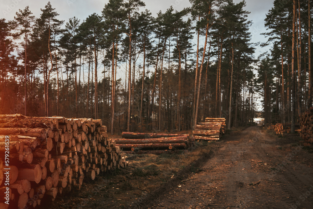
[[123, 132], [122, 137], [113, 140], [124, 153], [130, 154], [161, 154], [194, 146], [188, 134]]

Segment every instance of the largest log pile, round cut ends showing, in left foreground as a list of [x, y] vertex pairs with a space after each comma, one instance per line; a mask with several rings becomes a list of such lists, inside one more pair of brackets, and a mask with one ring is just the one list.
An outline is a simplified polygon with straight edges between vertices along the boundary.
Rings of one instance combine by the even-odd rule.
[[[84, 179], [126, 166], [106, 131], [101, 120], [91, 118], [0, 115], [1, 196], [8, 168], [10, 206], [24, 208], [40, 205], [43, 197], [54, 200], [57, 194], [80, 190]], [[8, 137], [9, 166], [3, 164]]]

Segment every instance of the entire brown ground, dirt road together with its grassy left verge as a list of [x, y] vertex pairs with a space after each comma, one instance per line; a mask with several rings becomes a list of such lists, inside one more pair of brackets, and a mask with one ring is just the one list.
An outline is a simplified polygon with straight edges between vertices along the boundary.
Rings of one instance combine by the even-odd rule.
[[262, 126], [230, 130], [188, 152], [129, 156], [49, 208], [312, 208], [313, 148]]

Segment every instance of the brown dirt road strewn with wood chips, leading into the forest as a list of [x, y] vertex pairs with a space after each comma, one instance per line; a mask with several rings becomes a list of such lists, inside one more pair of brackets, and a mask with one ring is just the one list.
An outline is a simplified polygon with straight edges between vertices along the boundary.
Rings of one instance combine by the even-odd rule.
[[151, 208], [313, 208], [313, 168], [299, 145], [253, 126], [216, 146], [197, 173]]

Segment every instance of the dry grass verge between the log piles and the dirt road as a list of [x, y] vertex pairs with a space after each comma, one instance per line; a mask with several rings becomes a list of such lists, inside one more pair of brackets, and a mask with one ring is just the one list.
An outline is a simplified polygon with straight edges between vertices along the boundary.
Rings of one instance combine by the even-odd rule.
[[[215, 142], [213, 142], [215, 143]], [[84, 182], [80, 191], [57, 197], [43, 208], [124, 208], [175, 177], [210, 150], [211, 142], [196, 142], [188, 152], [125, 155], [129, 166]], [[192, 168], [190, 172], [196, 172]]]

